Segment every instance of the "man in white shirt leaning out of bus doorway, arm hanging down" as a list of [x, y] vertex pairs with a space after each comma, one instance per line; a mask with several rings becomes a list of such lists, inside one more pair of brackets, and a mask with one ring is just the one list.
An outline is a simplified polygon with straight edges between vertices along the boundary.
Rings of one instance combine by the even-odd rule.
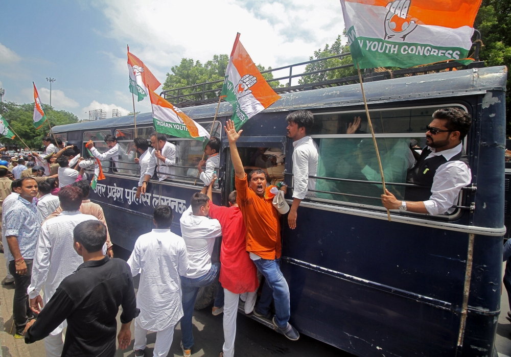
[[293, 204], [289, 209], [289, 228], [296, 228], [298, 206], [306, 196], [315, 196], [309, 189], [316, 188], [316, 176], [318, 170], [318, 146], [307, 135], [314, 125], [314, 115], [309, 110], [298, 110], [286, 117], [288, 122], [287, 137], [293, 140]]

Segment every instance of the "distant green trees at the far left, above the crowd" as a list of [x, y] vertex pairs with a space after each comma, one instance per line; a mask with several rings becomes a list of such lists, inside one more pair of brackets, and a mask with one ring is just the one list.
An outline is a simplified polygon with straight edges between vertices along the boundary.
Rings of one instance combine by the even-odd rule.
[[[77, 123], [78, 117], [65, 110], [55, 110], [53, 107], [43, 104], [44, 112], [51, 126]], [[48, 123], [44, 123], [40, 129], [34, 128], [33, 115], [34, 103], [16, 104], [13, 102], [3, 102], [0, 105], [0, 114], [6, 118], [11, 128], [16, 132], [23, 141], [27, 143], [30, 149], [42, 149], [42, 137], [48, 134]], [[25, 148], [18, 136], [11, 140], [2, 137], [0, 142], [7, 145], [16, 145], [18, 148]]]

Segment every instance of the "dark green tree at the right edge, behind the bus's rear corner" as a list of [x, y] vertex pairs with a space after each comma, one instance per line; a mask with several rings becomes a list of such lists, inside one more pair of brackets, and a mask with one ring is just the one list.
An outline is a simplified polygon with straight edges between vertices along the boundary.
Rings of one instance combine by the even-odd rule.
[[[509, 0], [483, 0], [474, 28], [481, 32], [484, 46], [479, 52], [479, 60], [487, 66], [511, 66], [511, 2]], [[511, 135], [511, 76], [506, 83], [506, 132]]]

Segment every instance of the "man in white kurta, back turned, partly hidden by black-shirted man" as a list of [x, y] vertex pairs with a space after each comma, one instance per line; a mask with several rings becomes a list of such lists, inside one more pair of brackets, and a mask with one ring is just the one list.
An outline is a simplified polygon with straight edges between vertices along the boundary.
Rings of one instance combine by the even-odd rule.
[[[76, 200], [70, 201], [64, 196], [74, 191]], [[67, 194], [67, 195], [66, 195]], [[55, 294], [60, 282], [71, 275], [83, 259], [73, 249], [73, 230], [84, 221], [97, 221], [94, 216], [83, 215], [78, 208], [82, 202], [82, 191], [78, 187], [63, 187], [59, 192], [59, 199], [63, 212], [59, 216], [44, 222], [41, 226], [41, 234], [37, 241], [32, 266], [32, 279], [27, 289], [30, 304], [33, 308], [39, 302], [43, 306], [48, 303]], [[103, 247], [106, 250], [106, 247]], [[39, 295], [44, 286], [44, 298]], [[37, 311], [36, 311], [37, 312]], [[62, 330], [66, 327], [64, 320], [51, 334], [44, 338], [44, 347], [47, 357], [57, 357], [62, 354], [64, 343]]]

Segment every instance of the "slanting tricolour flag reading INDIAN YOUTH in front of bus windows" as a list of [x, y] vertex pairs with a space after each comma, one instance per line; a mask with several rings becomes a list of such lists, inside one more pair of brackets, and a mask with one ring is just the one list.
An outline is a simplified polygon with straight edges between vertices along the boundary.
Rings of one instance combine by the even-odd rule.
[[202, 142], [210, 138], [210, 133], [206, 129], [193, 121], [187, 114], [184, 114], [181, 109], [158, 96], [154, 91], [149, 90], [149, 98], [151, 99], [156, 132], [192, 138]]

